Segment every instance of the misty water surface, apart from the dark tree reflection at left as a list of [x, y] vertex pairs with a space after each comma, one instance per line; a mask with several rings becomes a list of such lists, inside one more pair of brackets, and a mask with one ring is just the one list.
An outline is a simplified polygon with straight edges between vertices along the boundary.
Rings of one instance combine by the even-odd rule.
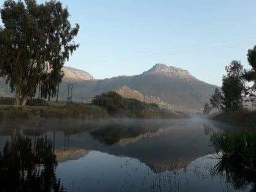
[[212, 135], [222, 129], [199, 117], [7, 122], [0, 151], [18, 137], [30, 138], [33, 151], [47, 137], [66, 191], [231, 191], [212, 170]]

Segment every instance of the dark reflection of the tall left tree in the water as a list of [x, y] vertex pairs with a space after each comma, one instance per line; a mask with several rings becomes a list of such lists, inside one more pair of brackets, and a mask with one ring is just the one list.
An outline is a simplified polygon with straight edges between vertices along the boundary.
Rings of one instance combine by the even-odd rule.
[[36, 140], [15, 135], [0, 152], [0, 191], [65, 191], [57, 180], [56, 156], [47, 137]]

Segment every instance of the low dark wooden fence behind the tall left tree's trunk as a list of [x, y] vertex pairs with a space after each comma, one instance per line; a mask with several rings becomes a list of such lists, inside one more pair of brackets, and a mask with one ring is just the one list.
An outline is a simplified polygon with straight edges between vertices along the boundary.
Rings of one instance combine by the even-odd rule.
[[[0, 105], [14, 105], [14, 97], [0, 97]], [[28, 98], [26, 105], [30, 106], [49, 106], [49, 103], [42, 98]]]

